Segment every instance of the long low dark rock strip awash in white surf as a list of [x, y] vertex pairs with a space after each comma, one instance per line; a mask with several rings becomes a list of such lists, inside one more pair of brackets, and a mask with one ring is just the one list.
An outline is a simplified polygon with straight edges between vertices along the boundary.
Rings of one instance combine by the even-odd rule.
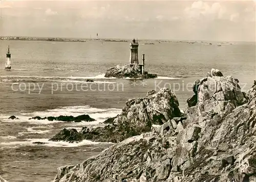
[[48, 119], [49, 121], [66, 121], [66, 122], [81, 122], [81, 121], [95, 121], [95, 119], [91, 118], [89, 115], [79, 115], [79, 116], [58, 116], [58, 117], [53, 117], [53, 116], [49, 116], [49, 117], [44, 117], [41, 118], [40, 116], [36, 116], [33, 118], [29, 118], [29, 119], [37, 119], [37, 120], [44, 120], [44, 119]]

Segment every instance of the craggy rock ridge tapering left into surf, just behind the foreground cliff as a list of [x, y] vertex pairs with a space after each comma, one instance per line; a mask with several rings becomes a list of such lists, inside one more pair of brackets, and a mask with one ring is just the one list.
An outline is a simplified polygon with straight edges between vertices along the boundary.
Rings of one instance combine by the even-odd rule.
[[[83, 127], [75, 141], [83, 139], [97, 142], [117, 143], [126, 138], [151, 131], [153, 124], [163, 124], [174, 117], [180, 117], [179, 102], [170, 89], [164, 88], [159, 92], [148, 91], [144, 98], [133, 98], [126, 101], [122, 113], [105, 121], [104, 127]], [[67, 141], [62, 136], [63, 131], [51, 140]], [[67, 135], [69, 137], [69, 135]]]

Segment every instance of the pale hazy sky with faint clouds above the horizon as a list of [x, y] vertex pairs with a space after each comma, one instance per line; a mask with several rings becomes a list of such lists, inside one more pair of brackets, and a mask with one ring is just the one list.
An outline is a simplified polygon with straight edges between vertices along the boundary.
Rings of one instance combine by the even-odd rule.
[[0, 36], [255, 41], [256, 1], [4, 1]]

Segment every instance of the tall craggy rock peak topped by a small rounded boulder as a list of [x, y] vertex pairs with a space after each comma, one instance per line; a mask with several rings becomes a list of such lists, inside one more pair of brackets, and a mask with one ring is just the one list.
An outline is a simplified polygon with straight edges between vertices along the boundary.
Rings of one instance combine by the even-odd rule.
[[238, 106], [249, 101], [248, 96], [241, 92], [239, 81], [232, 76], [222, 75], [219, 70], [212, 69], [201, 80], [194, 83], [194, 95], [187, 99], [186, 124], [198, 123], [204, 125], [206, 121], [215, 119], [220, 121]]

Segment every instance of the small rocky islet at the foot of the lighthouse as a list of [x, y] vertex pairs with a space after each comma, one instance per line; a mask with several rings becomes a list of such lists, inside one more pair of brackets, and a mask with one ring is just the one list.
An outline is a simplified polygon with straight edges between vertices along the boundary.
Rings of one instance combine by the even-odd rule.
[[150, 74], [145, 72], [145, 75], [141, 75], [140, 71], [134, 71], [129, 66], [120, 66], [112, 67], [106, 70], [105, 77], [116, 77], [116, 78], [125, 78], [130, 77], [130, 79], [137, 79], [143, 77], [144, 79], [152, 79], [157, 77], [156, 74]]

